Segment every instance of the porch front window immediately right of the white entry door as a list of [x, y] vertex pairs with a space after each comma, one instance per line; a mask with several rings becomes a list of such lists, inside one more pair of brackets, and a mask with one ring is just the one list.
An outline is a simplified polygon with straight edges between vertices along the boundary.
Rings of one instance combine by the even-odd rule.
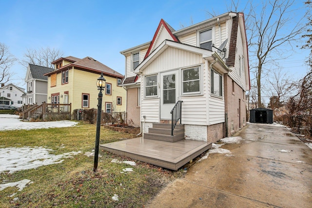
[[200, 92], [199, 67], [183, 69], [182, 76], [183, 94]]

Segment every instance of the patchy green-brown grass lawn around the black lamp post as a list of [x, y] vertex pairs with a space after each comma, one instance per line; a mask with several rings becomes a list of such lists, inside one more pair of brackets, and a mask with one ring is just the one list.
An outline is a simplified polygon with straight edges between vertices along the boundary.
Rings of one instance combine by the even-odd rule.
[[[112, 163], [131, 160], [100, 151], [98, 171], [93, 172], [94, 157], [87, 157], [95, 146], [96, 125], [80, 122], [75, 127], [16, 130], [0, 132], [0, 148], [44, 147], [52, 154], [81, 151], [59, 164], [37, 169], [0, 173], [0, 184], [29, 179], [33, 183], [18, 191], [10, 187], [0, 191], [0, 207], [144, 207], [168, 182], [183, 176], [183, 171], [162, 168], [135, 161], [137, 166]], [[135, 134], [114, 132], [101, 127], [100, 144], [129, 139]], [[133, 161], [133, 160], [132, 160]], [[133, 172], [121, 172], [133, 168]], [[15, 196], [10, 196], [17, 193]], [[112, 197], [117, 194], [118, 201]]]

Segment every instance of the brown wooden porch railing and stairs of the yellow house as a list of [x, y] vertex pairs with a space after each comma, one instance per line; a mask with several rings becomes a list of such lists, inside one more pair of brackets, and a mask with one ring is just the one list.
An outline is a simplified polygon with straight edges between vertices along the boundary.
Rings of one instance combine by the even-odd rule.
[[41, 105], [34, 105], [33, 107], [23, 111], [23, 119], [27, 120], [56, 120], [71, 118], [72, 105], [71, 104], [50, 104], [43, 102]]

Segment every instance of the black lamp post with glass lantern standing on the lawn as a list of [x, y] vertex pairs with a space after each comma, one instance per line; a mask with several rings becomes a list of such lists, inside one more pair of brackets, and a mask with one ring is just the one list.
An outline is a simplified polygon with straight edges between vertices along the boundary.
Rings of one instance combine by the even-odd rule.
[[101, 112], [102, 112], [102, 90], [105, 89], [106, 86], [106, 79], [103, 77], [103, 72], [101, 73], [101, 76], [98, 77], [97, 81], [98, 86], [98, 117], [97, 117], [97, 134], [96, 134], [96, 147], [95, 147], [95, 153], [94, 153], [94, 166], [93, 171], [96, 172], [98, 168], [98, 149], [99, 149], [99, 131], [101, 127]]

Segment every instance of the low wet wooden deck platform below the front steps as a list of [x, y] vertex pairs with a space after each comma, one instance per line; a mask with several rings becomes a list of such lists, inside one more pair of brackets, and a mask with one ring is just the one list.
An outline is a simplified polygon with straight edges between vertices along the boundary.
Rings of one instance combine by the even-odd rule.
[[100, 149], [170, 170], [177, 170], [210, 149], [211, 146], [212, 144], [208, 142], [186, 139], [165, 142], [137, 137], [102, 144]]

